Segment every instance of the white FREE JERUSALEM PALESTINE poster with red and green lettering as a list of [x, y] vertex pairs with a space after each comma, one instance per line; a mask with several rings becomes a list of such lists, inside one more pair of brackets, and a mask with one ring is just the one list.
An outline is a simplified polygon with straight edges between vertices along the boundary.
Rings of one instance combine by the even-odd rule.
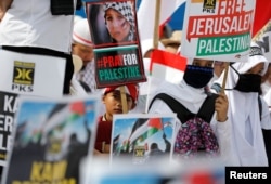
[[188, 0], [181, 54], [186, 57], [246, 62], [255, 0]]

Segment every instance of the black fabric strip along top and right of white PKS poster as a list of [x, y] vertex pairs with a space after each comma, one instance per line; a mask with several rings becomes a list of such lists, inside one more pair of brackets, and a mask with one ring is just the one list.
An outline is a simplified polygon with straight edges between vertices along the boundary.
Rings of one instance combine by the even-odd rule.
[[63, 94], [69, 94], [69, 84], [74, 75], [74, 64], [72, 53], [59, 52], [44, 48], [33, 48], [33, 47], [7, 47], [3, 45], [2, 49], [24, 54], [38, 54], [38, 55], [50, 55], [66, 58], [66, 68], [64, 77]]

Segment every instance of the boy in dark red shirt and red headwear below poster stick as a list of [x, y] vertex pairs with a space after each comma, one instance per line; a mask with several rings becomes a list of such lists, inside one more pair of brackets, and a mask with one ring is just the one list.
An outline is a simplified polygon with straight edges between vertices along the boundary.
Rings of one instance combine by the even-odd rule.
[[128, 111], [133, 109], [138, 102], [139, 87], [138, 84], [126, 84], [122, 87], [105, 88], [103, 92], [102, 102], [105, 106], [105, 114], [99, 118], [95, 153], [109, 153], [111, 136], [112, 136], [112, 121], [116, 114], [124, 114], [120, 88], [125, 88]]

